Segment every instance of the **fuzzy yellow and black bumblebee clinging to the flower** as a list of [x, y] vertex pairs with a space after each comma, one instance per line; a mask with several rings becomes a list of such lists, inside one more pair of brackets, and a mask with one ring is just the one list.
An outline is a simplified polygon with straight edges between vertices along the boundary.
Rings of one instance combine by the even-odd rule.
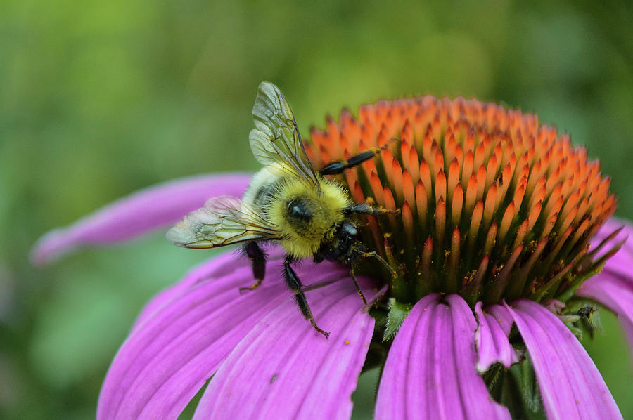
[[266, 256], [260, 244], [279, 242], [286, 251], [283, 278], [301, 310], [316, 331], [320, 329], [307, 303], [302, 282], [291, 264], [312, 256], [316, 263], [338, 261], [350, 266], [351, 277], [364, 303], [366, 299], [354, 276], [353, 263], [359, 258], [378, 258], [359, 240], [352, 221], [354, 214], [378, 216], [390, 211], [371, 204], [355, 204], [343, 185], [326, 178], [343, 173], [376, 156], [380, 148], [352, 156], [346, 161], [331, 162], [314, 171], [305, 154], [297, 122], [279, 88], [262, 82], [252, 108], [255, 129], [249, 140], [255, 158], [264, 168], [253, 176], [243, 199], [214, 197], [202, 209], [192, 211], [167, 232], [167, 239], [186, 248], [215, 248], [243, 244], [252, 261], [255, 289], [264, 280]]

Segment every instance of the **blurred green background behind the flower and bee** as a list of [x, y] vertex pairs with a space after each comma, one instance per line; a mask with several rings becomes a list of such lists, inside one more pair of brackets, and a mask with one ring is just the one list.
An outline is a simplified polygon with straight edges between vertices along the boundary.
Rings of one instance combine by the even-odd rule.
[[[93, 417], [143, 303], [210, 255], [156, 233], [36, 269], [37, 237], [153, 183], [257, 169], [246, 139], [264, 79], [304, 133], [423, 93], [537, 112], [601, 159], [633, 219], [630, 2], [213, 3], [0, 1], [0, 416]], [[633, 418], [630, 353], [602, 317], [583, 343]]]

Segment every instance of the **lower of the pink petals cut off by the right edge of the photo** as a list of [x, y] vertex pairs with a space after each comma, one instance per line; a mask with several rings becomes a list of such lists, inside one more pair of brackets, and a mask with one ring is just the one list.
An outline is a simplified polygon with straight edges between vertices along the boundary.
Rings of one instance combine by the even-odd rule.
[[618, 314], [629, 344], [633, 348], [633, 280], [631, 278], [622, 278], [605, 269], [584, 282], [576, 291], [576, 295], [592, 298]]

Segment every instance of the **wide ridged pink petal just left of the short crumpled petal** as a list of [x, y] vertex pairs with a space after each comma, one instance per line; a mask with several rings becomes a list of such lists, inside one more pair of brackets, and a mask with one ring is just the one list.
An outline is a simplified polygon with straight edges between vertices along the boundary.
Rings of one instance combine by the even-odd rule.
[[400, 327], [378, 388], [376, 419], [510, 419], [475, 364], [477, 323], [457, 295], [418, 301]]

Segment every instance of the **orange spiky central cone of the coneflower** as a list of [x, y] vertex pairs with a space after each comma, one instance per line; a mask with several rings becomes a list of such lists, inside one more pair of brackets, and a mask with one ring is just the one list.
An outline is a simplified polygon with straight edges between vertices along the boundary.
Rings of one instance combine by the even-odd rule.
[[[476, 301], [566, 300], [599, 270], [588, 240], [615, 211], [610, 178], [568, 134], [494, 103], [433, 96], [344, 110], [306, 144], [316, 168], [393, 142], [345, 173], [356, 202], [402, 214], [366, 218], [364, 242], [402, 277], [392, 294]], [[612, 250], [613, 251], [613, 250]]]

